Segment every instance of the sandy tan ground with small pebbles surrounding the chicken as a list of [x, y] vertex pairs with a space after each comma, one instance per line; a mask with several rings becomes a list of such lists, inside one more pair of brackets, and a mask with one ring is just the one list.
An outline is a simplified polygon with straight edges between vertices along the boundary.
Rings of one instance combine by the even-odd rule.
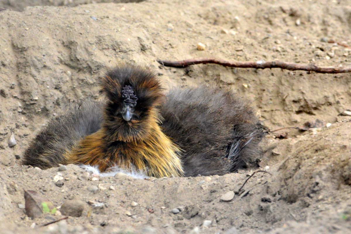
[[[6, 233], [347, 233], [351, 230], [350, 74], [281, 69], [160, 66], [157, 59], [217, 57], [350, 64], [351, 4], [346, 0], [138, 3], [0, 1], [0, 219]], [[100, 2], [100, 1], [95, 1]], [[102, 2], [102, 1], [101, 1]], [[106, 1], [105, 1], [106, 2]], [[111, 1], [110, 1], [111, 2]], [[17, 1], [18, 3], [18, 1]], [[24, 5], [27, 4], [27, 5]], [[52, 6], [33, 6], [36, 4]], [[60, 5], [65, 5], [61, 7]], [[78, 6], [76, 6], [78, 5]], [[13, 9], [13, 10], [11, 10]], [[24, 11], [22, 11], [25, 9]], [[198, 51], [196, 45], [206, 45]], [[103, 68], [117, 60], [146, 63], [165, 88], [217, 82], [252, 102], [268, 134], [261, 169], [225, 176], [82, 180], [69, 165], [39, 171], [20, 166], [40, 126], [68, 100], [98, 98]], [[330, 127], [326, 127], [331, 123]], [[329, 126], [329, 125], [328, 125]], [[16, 145], [9, 147], [14, 135]], [[80, 178], [80, 179], [78, 179]], [[93, 179], [93, 180], [92, 180]], [[96, 193], [88, 190], [97, 186]], [[114, 190], [110, 189], [114, 187]], [[105, 189], [106, 188], [106, 189]], [[24, 189], [60, 207], [84, 202], [81, 217], [25, 214]], [[233, 191], [231, 201], [220, 201]], [[132, 206], [132, 203], [138, 203]], [[102, 204], [101, 207], [94, 205]], [[135, 204], [134, 204], [135, 205]], [[172, 209], [180, 212], [173, 214]], [[210, 222], [204, 221], [209, 220]], [[35, 223], [35, 225], [33, 224]], [[29, 228], [32, 227], [32, 228]]]

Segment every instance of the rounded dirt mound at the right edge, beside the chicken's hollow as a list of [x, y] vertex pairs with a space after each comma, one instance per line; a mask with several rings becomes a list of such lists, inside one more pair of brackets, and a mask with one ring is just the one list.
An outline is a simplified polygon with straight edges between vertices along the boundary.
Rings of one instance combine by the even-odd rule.
[[351, 185], [349, 127], [349, 121], [339, 122], [312, 139], [296, 143], [298, 147], [278, 168], [287, 188], [284, 199], [293, 203], [301, 197], [315, 198], [319, 192], [327, 194]]

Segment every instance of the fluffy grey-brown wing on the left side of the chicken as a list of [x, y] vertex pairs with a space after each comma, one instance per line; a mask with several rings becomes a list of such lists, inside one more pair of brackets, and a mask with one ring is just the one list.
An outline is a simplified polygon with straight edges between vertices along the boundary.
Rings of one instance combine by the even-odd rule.
[[22, 163], [42, 169], [66, 164], [63, 154], [100, 129], [102, 108], [102, 102], [92, 99], [68, 103], [66, 112], [49, 121], [32, 140]]

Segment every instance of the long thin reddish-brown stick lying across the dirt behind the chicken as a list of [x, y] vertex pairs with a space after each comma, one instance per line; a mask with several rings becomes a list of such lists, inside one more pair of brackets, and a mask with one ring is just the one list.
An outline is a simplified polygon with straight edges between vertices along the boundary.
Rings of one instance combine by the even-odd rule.
[[256, 68], [256, 69], [265, 69], [265, 68], [282, 68], [291, 71], [307, 71], [307, 72], [317, 72], [317, 73], [344, 73], [351, 72], [351, 66], [349, 67], [318, 67], [314, 64], [304, 64], [304, 63], [293, 63], [293, 62], [283, 62], [283, 61], [226, 61], [223, 59], [216, 58], [202, 58], [202, 59], [186, 59], [181, 61], [168, 61], [168, 60], [157, 60], [160, 64], [167, 67], [187, 67], [194, 64], [206, 64], [214, 63], [222, 65], [225, 67], [241, 67], [241, 68]]

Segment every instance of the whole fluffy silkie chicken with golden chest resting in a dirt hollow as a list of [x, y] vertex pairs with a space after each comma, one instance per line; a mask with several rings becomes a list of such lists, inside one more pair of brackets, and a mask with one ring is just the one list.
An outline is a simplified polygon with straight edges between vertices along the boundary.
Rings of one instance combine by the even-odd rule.
[[118, 166], [155, 177], [225, 174], [257, 164], [262, 130], [251, 107], [227, 89], [171, 89], [164, 96], [150, 69], [122, 64], [101, 79], [101, 93], [104, 103], [87, 100], [49, 122], [24, 164], [81, 163], [101, 172]]

